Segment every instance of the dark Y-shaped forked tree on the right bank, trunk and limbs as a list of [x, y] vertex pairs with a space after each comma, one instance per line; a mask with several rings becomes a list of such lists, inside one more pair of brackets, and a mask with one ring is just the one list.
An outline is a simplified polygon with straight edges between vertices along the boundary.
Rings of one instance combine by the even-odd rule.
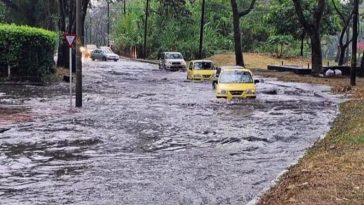
[[313, 8], [312, 16], [305, 16], [301, 0], [292, 0], [298, 20], [302, 25], [304, 31], [311, 39], [311, 61], [312, 61], [312, 74], [318, 75], [322, 70], [322, 50], [321, 50], [321, 20], [325, 10], [326, 1], [318, 0], [317, 5]]

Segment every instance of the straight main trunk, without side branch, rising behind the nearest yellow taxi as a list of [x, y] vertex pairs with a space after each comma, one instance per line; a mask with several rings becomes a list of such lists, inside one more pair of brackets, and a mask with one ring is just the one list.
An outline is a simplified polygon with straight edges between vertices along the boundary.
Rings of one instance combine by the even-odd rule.
[[240, 31], [240, 17], [238, 5], [236, 0], [231, 0], [231, 7], [233, 9], [233, 24], [234, 24], [234, 42], [235, 42], [235, 60], [236, 65], [245, 66], [243, 52], [241, 49], [241, 31]]

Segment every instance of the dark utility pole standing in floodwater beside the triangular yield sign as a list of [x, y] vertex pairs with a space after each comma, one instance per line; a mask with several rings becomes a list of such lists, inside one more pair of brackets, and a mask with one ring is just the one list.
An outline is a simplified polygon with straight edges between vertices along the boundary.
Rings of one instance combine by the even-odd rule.
[[76, 107], [82, 107], [82, 18], [81, 0], [76, 0]]

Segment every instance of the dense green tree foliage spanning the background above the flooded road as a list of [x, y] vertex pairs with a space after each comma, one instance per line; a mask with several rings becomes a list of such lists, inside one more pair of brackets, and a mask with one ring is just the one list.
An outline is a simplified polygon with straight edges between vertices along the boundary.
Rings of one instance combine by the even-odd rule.
[[[157, 58], [161, 51], [176, 50], [188, 59], [197, 58], [202, 0], [149, 1], [146, 45], [149, 57]], [[0, 0], [0, 22], [74, 32], [72, 2], [74, 3], [70, 0]], [[139, 56], [142, 55], [146, 1], [97, 0], [98, 3], [92, 7], [89, 2], [82, 0], [87, 43], [106, 45], [106, 25], [110, 21], [113, 47], [121, 53], [136, 49]], [[236, 5], [232, 4], [234, 2]], [[110, 19], [107, 18], [106, 4], [110, 6]], [[203, 25], [203, 56], [237, 48], [241, 48], [242, 52], [268, 52], [282, 57], [316, 55], [318, 48], [321, 48], [321, 38], [334, 39], [335, 36], [339, 39], [336, 43], [341, 45], [340, 53], [345, 53], [343, 48], [348, 47], [351, 4], [352, 0], [346, 3], [340, 0], [208, 0]], [[86, 17], [87, 9], [89, 12]], [[239, 29], [235, 29], [235, 32], [234, 9], [240, 18], [236, 24]], [[245, 15], [247, 13], [249, 15]], [[241, 18], [242, 16], [244, 17]], [[241, 33], [237, 35], [237, 31]], [[63, 48], [62, 41], [60, 43], [59, 53], [62, 55], [67, 51]], [[335, 42], [324, 42], [325, 45], [329, 43]], [[317, 48], [312, 49], [312, 46]], [[318, 58], [317, 61], [322, 59]], [[67, 64], [64, 61], [59, 65]]]

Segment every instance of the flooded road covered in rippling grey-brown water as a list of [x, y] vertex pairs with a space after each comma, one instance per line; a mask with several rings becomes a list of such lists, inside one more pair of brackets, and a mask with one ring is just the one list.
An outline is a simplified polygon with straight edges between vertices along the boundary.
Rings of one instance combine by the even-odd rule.
[[228, 103], [209, 82], [132, 61], [83, 73], [72, 113], [66, 83], [1, 85], [0, 110], [27, 117], [0, 125], [1, 204], [247, 204], [328, 131], [339, 102], [266, 79], [257, 99]]

